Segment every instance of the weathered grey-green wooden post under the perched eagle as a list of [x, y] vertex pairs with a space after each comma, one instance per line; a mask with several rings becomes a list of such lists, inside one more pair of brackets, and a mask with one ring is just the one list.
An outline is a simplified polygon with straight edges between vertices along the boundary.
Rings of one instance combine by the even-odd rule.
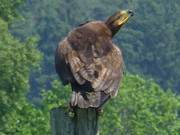
[[96, 109], [74, 109], [74, 116], [65, 108], [51, 110], [52, 135], [97, 135], [98, 114]]

